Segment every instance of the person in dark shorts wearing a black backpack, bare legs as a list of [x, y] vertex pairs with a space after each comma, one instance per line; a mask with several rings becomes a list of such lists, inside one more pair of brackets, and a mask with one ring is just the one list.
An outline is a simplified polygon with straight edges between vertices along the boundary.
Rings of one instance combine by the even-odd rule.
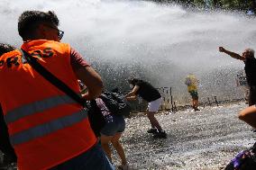
[[[117, 166], [118, 169], [128, 170], [129, 166], [124, 154], [123, 146], [120, 142], [120, 138], [125, 129], [125, 121], [122, 114], [122, 109], [125, 101], [123, 101], [124, 96], [122, 94], [113, 92], [104, 92], [98, 98], [96, 98], [96, 106], [102, 113], [105, 125], [100, 130], [100, 142], [101, 146], [105, 151], [106, 156], [112, 162], [112, 151], [109, 144], [112, 143], [114, 149], [116, 150], [118, 156], [121, 158], [121, 165]], [[93, 103], [93, 101], [91, 101]], [[129, 109], [129, 106], [124, 106]], [[126, 109], [127, 110], [127, 109]]]

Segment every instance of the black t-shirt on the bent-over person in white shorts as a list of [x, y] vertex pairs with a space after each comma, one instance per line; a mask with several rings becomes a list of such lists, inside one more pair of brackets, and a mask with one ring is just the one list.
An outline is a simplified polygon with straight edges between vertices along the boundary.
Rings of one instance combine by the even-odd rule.
[[142, 97], [142, 99], [149, 103], [161, 97], [159, 91], [147, 82], [140, 80], [135, 85], [140, 86], [136, 94], [139, 94]]

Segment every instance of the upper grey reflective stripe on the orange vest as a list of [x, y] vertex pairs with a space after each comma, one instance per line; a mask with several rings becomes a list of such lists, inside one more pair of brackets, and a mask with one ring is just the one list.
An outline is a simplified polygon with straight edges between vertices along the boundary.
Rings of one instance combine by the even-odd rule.
[[7, 114], [5, 115], [5, 122], [9, 124], [14, 121], [18, 121], [25, 116], [29, 116], [37, 112], [44, 112], [47, 109], [66, 103], [76, 102], [73, 99], [71, 99], [68, 95], [58, 95], [41, 101], [36, 101], [34, 103], [25, 104], [10, 112], [7, 112]]

